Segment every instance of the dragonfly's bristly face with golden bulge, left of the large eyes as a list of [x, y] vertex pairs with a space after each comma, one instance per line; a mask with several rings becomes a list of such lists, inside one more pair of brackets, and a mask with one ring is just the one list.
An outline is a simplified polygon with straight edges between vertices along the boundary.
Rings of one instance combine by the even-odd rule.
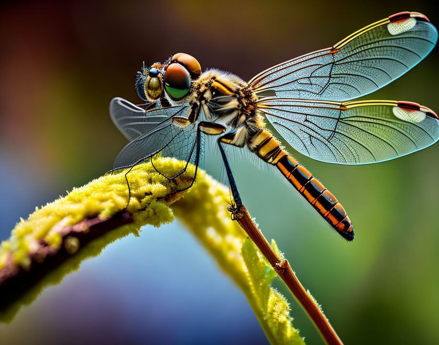
[[163, 66], [158, 62], [149, 68], [144, 63], [142, 71], [137, 72], [136, 90], [141, 99], [153, 102], [160, 98], [163, 92], [162, 70]]

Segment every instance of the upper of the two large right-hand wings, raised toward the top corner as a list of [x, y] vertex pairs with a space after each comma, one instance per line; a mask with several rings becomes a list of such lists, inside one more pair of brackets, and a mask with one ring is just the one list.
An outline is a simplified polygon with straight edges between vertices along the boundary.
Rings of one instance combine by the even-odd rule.
[[[337, 43], [269, 68], [249, 81], [277, 97], [349, 100], [367, 95], [413, 68], [433, 49], [438, 31], [417, 12], [402, 12]], [[271, 95], [274, 96], [271, 92]]]

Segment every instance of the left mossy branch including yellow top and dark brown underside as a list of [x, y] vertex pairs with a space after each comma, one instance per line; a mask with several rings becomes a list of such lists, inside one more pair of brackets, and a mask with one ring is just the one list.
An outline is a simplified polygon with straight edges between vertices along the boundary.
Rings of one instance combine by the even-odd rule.
[[[172, 175], [172, 172], [182, 170], [186, 163], [159, 157], [154, 165]], [[193, 172], [194, 167], [190, 166], [188, 174]], [[199, 178], [202, 179], [204, 175], [200, 172]], [[74, 253], [72, 246], [64, 243], [73, 225], [77, 227], [93, 219], [111, 221], [113, 216], [121, 214], [125, 208], [128, 189], [124, 172], [102, 176], [85, 186], [74, 188], [67, 196], [40, 209], [36, 208], [27, 220], [17, 223], [11, 237], [0, 246], [0, 321], [12, 320], [20, 307], [32, 302], [44, 287], [59, 283], [66, 274], [77, 270], [81, 261], [98, 255], [108, 244], [130, 233], [138, 236], [141, 226], [145, 224], [159, 226], [172, 222], [173, 214], [169, 204], [188, 192], [176, 194], [176, 190], [183, 184], [187, 185], [187, 181], [169, 181], [158, 174], [151, 163], [135, 167], [129, 173], [128, 180], [131, 199], [127, 208], [129, 213], [125, 213], [129, 214], [129, 224], [108, 228], [108, 231], [103, 231], [91, 242], [77, 243], [78, 248]], [[94, 236], [87, 226], [79, 231], [83, 239], [89, 235]], [[67, 259], [66, 252], [72, 253]], [[55, 262], [52, 269], [50, 265], [56, 260], [60, 263], [58, 265]], [[49, 271], [47, 267], [42, 269], [44, 264], [49, 265]], [[22, 280], [15, 286], [17, 276]], [[14, 292], [18, 289], [25, 290], [20, 292], [21, 295], [12, 294], [14, 296], [9, 299], [7, 295], [2, 295], [5, 291]]]

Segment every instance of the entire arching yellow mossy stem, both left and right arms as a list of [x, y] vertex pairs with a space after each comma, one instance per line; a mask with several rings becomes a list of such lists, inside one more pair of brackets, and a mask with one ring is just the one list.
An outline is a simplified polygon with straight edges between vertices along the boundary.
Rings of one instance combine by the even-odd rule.
[[[167, 175], [180, 171], [185, 164], [163, 157], [154, 161], [154, 166]], [[175, 215], [243, 291], [270, 343], [303, 345], [302, 338], [291, 324], [287, 300], [270, 286], [275, 272], [241, 226], [230, 219], [228, 189], [198, 170], [194, 186], [175, 193], [188, 184], [187, 176], [192, 176], [194, 169], [190, 165], [187, 174], [169, 181], [158, 174], [151, 163], [135, 167], [128, 175], [131, 199], [127, 211], [132, 222], [109, 229], [85, 245], [81, 245], [78, 239], [80, 233], [66, 233], [66, 229], [85, 224], [86, 220], [111, 220], [121, 214], [128, 197], [124, 172], [102, 176], [83, 187], [74, 188], [65, 197], [36, 208], [26, 221], [17, 223], [9, 239], [1, 243], [0, 291], [2, 271], [10, 269], [11, 265], [21, 271], [32, 271], [34, 266], [44, 263], [44, 255], [35, 255], [42, 243], [55, 252], [64, 248], [70, 256], [7, 310], [0, 307], [0, 320], [11, 320], [19, 308], [32, 302], [45, 286], [59, 283], [67, 273], [77, 270], [82, 260], [98, 255], [111, 242], [130, 233], [137, 236], [145, 224], [159, 226], [171, 222]], [[85, 235], [93, 231], [87, 226], [80, 227], [80, 232]], [[277, 248], [275, 251], [278, 252]]]

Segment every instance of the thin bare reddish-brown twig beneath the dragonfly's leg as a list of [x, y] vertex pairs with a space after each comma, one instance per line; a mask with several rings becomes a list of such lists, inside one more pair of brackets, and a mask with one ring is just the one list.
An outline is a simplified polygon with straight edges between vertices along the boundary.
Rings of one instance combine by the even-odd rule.
[[233, 219], [241, 225], [248, 237], [250, 237], [256, 246], [258, 246], [273, 269], [282, 278], [285, 284], [287, 284], [288, 288], [293, 293], [293, 296], [302, 305], [311, 320], [313, 320], [325, 342], [328, 345], [342, 345], [343, 343], [341, 342], [341, 339], [323, 315], [314, 298], [310, 296], [302, 284], [300, 284], [288, 261], [280, 261], [262, 232], [256, 227], [250, 218], [245, 206], [239, 205], [237, 208], [229, 207], [229, 211], [232, 212]]

